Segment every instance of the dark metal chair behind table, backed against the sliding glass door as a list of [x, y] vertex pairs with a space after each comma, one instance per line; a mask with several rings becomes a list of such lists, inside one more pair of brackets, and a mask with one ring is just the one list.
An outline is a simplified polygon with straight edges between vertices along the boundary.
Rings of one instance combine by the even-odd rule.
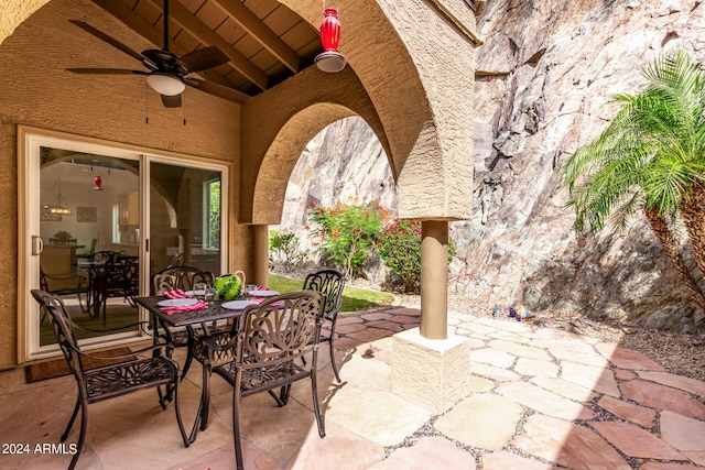
[[[198, 283], [204, 283], [207, 287], [213, 287], [213, 273], [193, 266], [172, 266], [152, 275], [151, 289], [152, 295], [161, 295], [166, 291], [177, 288], [182, 291], [193, 291], [194, 285]], [[191, 338], [204, 335], [206, 329], [216, 332], [217, 325], [202, 325], [200, 328], [192, 327], [191, 334], [187, 329], [170, 330], [171, 342], [175, 348], [188, 347], [192, 341]], [[182, 376], [186, 376], [192, 362], [192, 356], [187, 354], [182, 370]]]

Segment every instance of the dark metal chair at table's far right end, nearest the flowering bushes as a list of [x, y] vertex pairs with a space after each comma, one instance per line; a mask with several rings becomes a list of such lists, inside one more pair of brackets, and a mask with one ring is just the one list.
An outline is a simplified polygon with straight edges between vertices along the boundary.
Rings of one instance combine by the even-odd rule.
[[[323, 318], [329, 323], [330, 334], [322, 334], [321, 342], [327, 342], [330, 349], [330, 364], [338, 383], [341, 382], [338, 365], [335, 361], [335, 326], [338, 310], [343, 303], [343, 289], [345, 288], [345, 275], [337, 270], [321, 270], [311, 273], [304, 280], [304, 287], [322, 293], [325, 296]], [[324, 324], [325, 325], [325, 324]]]

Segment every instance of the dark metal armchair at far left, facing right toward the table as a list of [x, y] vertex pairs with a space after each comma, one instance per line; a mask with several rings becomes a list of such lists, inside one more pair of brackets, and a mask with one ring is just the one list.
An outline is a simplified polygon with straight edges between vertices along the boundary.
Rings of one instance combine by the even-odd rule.
[[[61, 436], [62, 442], [66, 440], [72, 430], [78, 411], [80, 409], [80, 434], [76, 444], [76, 452], [70, 460], [68, 469], [73, 469], [80, 457], [80, 451], [86, 439], [88, 425], [88, 405], [105, 400], [116, 398], [140, 390], [167, 386], [174, 401], [176, 422], [184, 440], [188, 447], [191, 444], [186, 436], [186, 430], [178, 409], [178, 383], [181, 373], [178, 364], [169, 358], [169, 345], [154, 345], [143, 348], [129, 354], [119, 356], [93, 356], [80, 350], [74, 331], [74, 324], [66, 313], [62, 299], [44, 291], [34, 289], [32, 296], [39, 302], [40, 307], [46, 314], [54, 329], [56, 341], [64, 353], [66, 362], [74, 373], [78, 385], [78, 397], [76, 406], [72, 413], [68, 425]], [[164, 354], [166, 352], [166, 354]], [[149, 353], [148, 358], [140, 358], [140, 354]], [[97, 360], [124, 360], [123, 362], [104, 365], [96, 369], [86, 369], [84, 359]], [[166, 409], [166, 403], [160, 393], [160, 404]]]

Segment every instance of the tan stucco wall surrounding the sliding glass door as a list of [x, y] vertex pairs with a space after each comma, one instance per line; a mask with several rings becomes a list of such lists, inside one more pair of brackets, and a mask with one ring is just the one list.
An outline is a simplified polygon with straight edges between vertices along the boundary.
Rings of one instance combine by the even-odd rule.
[[[126, 54], [67, 22], [89, 22], [137, 51], [153, 47], [87, 0], [53, 0], [0, 44], [0, 369], [17, 357], [17, 124], [34, 125], [154, 150], [236, 163], [231, 188], [239, 184], [240, 107], [187, 89], [184, 107], [165, 109], [140, 76], [85, 76], [66, 67], [140, 68]], [[149, 116], [149, 124], [145, 117]], [[186, 125], [184, 125], [186, 119]], [[239, 192], [231, 190], [231, 215]], [[235, 220], [235, 218], [234, 218]], [[232, 227], [231, 259], [250, 244], [247, 227]], [[239, 262], [237, 264], [240, 265]], [[238, 267], [241, 269], [241, 267]]]

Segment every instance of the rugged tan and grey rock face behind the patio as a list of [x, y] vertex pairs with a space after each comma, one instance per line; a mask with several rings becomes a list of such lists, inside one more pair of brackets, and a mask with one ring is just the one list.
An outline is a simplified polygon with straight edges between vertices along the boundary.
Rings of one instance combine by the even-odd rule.
[[[705, 328], [639, 217], [626, 233], [574, 232], [557, 172], [615, 116], [610, 96], [637, 92], [640, 70], [659, 54], [683, 45], [705, 63], [703, 31], [705, 6], [695, 0], [487, 2], [478, 19], [485, 45], [475, 87], [474, 217], [452, 225], [452, 291], [475, 308], [524, 303], [677, 331]], [[359, 119], [328, 128], [302, 155], [283, 226], [305, 226], [311, 200], [367, 195], [394, 207], [386, 162]]]

